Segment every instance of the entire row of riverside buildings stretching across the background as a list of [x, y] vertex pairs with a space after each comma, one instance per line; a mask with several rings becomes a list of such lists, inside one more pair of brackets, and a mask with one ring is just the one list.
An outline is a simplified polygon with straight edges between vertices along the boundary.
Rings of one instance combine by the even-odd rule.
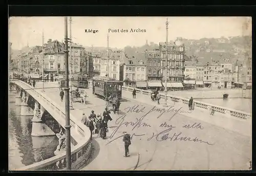
[[[147, 43], [146, 43], [147, 45]], [[167, 55], [166, 55], [167, 47]], [[44, 48], [44, 52], [42, 52]], [[70, 46], [69, 46], [70, 48]], [[65, 73], [64, 43], [49, 39], [44, 47], [35, 46], [23, 51], [13, 65], [22, 72]], [[42, 55], [44, 53], [44, 64]], [[124, 52], [109, 49], [105, 53], [87, 52], [81, 45], [71, 43], [70, 71], [75, 74], [106, 76], [124, 81], [125, 86], [140, 89], [163, 87], [167, 66], [167, 89], [180, 90], [184, 85], [192, 87], [251, 86], [251, 60], [231, 63], [228, 57], [212, 54], [185, 61], [185, 47], [181, 40], [160, 42], [153, 51]], [[22, 56], [22, 57], [20, 57]], [[166, 61], [167, 57], [167, 63]]]

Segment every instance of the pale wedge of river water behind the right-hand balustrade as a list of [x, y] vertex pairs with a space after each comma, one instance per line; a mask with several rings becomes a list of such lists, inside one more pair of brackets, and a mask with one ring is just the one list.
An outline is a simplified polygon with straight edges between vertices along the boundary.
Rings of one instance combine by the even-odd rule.
[[227, 107], [231, 109], [236, 109], [236, 110], [244, 111], [247, 113], [251, 113], [251, 109], [252, 109], [251, 98], [227, 98], [227, 99], [205, 98], [205, 99], [195, 99], [195, 100], [222, 106], [222, 107]]

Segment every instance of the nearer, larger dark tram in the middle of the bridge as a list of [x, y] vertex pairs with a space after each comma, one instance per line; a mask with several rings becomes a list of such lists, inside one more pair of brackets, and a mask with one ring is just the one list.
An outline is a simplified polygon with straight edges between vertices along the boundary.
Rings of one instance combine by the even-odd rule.
[[100, 98], [106, 99], [110, 95], [121, 100], [123, 81], [110, 79], [108, 77], [93, 78], [93, 94]]

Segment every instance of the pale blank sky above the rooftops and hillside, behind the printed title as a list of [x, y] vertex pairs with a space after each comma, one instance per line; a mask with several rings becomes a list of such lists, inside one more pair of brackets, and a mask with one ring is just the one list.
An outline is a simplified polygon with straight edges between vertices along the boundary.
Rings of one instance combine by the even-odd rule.
[[[41, 46], [48, 39], [64, 41], [64, 17], [10, 17], [9, 41], [12, 49], [27, 46]], [[106, 47], [109, 33], [109, 47], [143, 46], [146, 42], [166, 41], [166, 17], [72, 17], [72, 40], [80, 45]], [[70, 37], [68, 17], [68, 37]], [[251, 35], [250, 17], [168, 17], [168, 41], [177, 37], [187, 39], [219, 38], [221, 36]], [[88, 33], [84, 30], [98, 30]], [[109, 32], [119, 29], [119, 32]], [[127, 29], [128, 32], [121, 32]], [[131, 32], [143, 29], [145, 32]]]

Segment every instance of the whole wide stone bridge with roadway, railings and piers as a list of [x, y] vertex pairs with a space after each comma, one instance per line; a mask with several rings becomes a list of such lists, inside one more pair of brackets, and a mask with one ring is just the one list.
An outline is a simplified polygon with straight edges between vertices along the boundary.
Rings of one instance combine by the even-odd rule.
[[[65, 127], [65, 101], [61, 102], [57, 82], [37, 82], [35, 88], [23, 81], [12, 81], [22, 90], [16, 103], [21, 114], [33, 113], [32, 134], [54, 135], [56, 130], [42, 118], [47, 111], [60, 128]], [[119, 114], [111, 114], [108, 138], [93, 135], [81, 123], [82, 113], [94, 110], [102, 114], [105, 101], [86, 89], [86, 105], [74, 102], [70, 111], [72, 141], [72, 169], [80, 170], [246, 170], [251, 160], [251, 114], [208, 103], [195, 102], [195, 110], [188, 111], [188, 99], [168, 95], [167, 106], [161, 94], [160, 104], [153, 102], [150, 92], [123, 87]], [[25, 98], [26, 97], [26, 98]], [[34, 99], [34, 107], [28, 106]], [[22, 101], [21, 101], [22, 100]], [[38, 111], [38, 109], [40, 109]], [[214, 109], [214, 116], [209, 109]], [[35, 111], [37, 113], [35, 113]], [[40, 112], [40, 113], [38, 113]], [[39, 114], [39, 115], [38, 115]], [[48, 127], [46, 127], [48, 126]], [[42, 130], [44, 129], [44, 130]], [[47, 130], [46, 130], [47, 129]], [[63, 130], [63, 129], [62, 129]], [[124, 158], [122, 132], [131, 134], [129, 158]], [[58, 132], [58, 131], [57, 131]], [[58, 134], [58, 133], [57, 133]], [[18, 170], [65, 169], [66, 153]]]

